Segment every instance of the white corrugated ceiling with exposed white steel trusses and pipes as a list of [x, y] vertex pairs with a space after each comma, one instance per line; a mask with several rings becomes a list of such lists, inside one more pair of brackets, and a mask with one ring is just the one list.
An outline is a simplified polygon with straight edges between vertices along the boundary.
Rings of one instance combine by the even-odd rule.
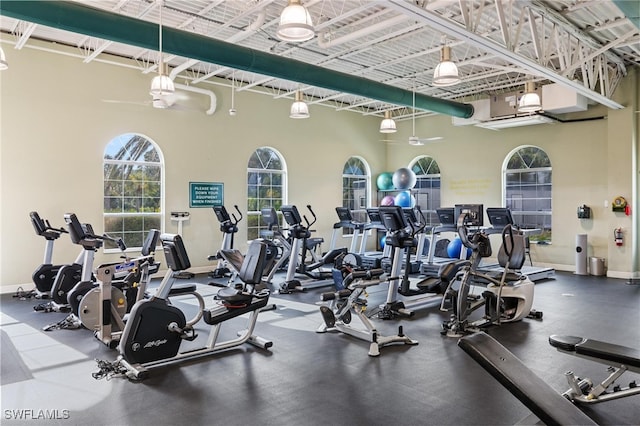
[[[38, 2], [34, 2], [33, 7]], [[82, 1], [114, 14], [157, 23], [156, 0]], [[522, 90], [524, 82], [572, 87], [592, 103], [620, 105], [612, 94], [628, 68], [640, 64], [636, 17], [625, 17], [609, 0], [305, 0], [316, 36], [294, 44], [275, 33], [286, 0], [165, 0], [163, 25], [231, 42], [318, 67], [348, 73], [440, 99], [470, 101]], [[32, 40], [77, 48], [85, 62], [118, 55], [141, 72], [157, 72], [158, 53], [0, 16], [3, 48], [18, 51]], [[448, 44], [462, 82], [432, 86], [440, 48]], [[68, 48], [64, 49], [68, 52]], [[18, 54], [18, 53], [12, 53]], [[382, 115], [390, 105], [335, 90], [300, 85], [266, 75], [232, 70], [188, 57], [165, 55], [176, 82], [236, 81], [239, 91], [293, 98], [301, 89], [310, 104]], [[117, 61], [114, 61], [117, 62]]]

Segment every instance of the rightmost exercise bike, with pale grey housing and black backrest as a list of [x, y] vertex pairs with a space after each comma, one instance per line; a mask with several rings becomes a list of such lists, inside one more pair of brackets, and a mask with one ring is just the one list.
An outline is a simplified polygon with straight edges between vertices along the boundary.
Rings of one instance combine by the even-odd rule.
[[[451, 280], [445, 291], [441, 310], [446, 311], [444, 302], [449, 299], [453, 307], [451, 319], [442, 325], [441, 333], [450, 337], [460, 337], [480, 328], [501, 323], [520, 321], [530, 316], [542, 318], [542, 312], [532, 311], [534, 283], [518, 271], [525, 261], [525, 236], [512, 225], [502, 230], [502, 245], [498, 262], [503, 267], [499, 278], [478, 270], [482, 258], [491, 256], [489, 236], [479, 230], [469, 233], [468, 225], [473, 224], [473, 214], [462, 210], [457, 221], [458, 235], [462, 244], [472, 250], [469, 261], [459, 261], [455, 265], [461, 278]], [[471, 294], [471, 287], [478, 283], [488, 283], [481, 297]], [[456, 289], [457, 285], [457, 289]], [[469, 316], [484, 306], [484, 316], [470, 321]]]

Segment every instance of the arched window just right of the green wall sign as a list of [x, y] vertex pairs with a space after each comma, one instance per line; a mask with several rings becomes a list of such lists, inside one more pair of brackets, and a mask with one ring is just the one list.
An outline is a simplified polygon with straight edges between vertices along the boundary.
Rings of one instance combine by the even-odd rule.
[[284, 158], [269, 147], [256, 149], [247, 165], [247, 238], [254, 240], [265, 229], [260, 210], [287, 202], [287, 170]]

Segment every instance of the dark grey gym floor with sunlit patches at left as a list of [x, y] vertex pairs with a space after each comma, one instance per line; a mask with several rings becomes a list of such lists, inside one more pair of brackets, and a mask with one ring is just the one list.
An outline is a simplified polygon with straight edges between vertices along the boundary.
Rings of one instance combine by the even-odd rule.
[[[210, 280], [199, 276], [194, 281]], [[218, 289], [206, 284], [199, 289], [212, 303]], [[273, 341], [270, 350], [240, 346], [152, 370], [140, 383], [121, 377], [95, 380], [95, 359], [112, 361], [115, 350], [86, 329], [45, 332], [43, 326], [66, 314], [34, 312], [36, 300], [2, 295], [0, 423], [507, 425], [530, 414], [458, 348], [457, 339], [440, 335], [447, 314], [439, 312], [437, 301], [410, 319], [374, 318], [383, 335], [403, 325], [405, 334], [419, 344], [385, 347], [380, 357], [371, 358], [364, 341], [315, 332], [322, 323], [317, 304], [322, 291], [271, 296], [277, 310], [261, 313], [255, 332]], [[640, 286], [557, 272], [555, 279], [538, 282], [535, 291], [533, 307], [543, 311], [541, 321], [525, 319], [488, 333], [558, 392], [568, 388], [566, 371], [600, 381], [606, 366], [557, 352], [547, 343], [549, 335], [640, 346]], [[372, 287], [369, 306], [384, 300], [385, 293], [385, 286]], [[227, 326], [229, 333], [242, 328], [243, 322], [237, 321]], [[197, 329], [200, 341], [208, 326], [200, 322]], [[620, 384], [638, 379], [627, 372]], [[640, 396], [584, 411], [600, 424], [637, 425]]]

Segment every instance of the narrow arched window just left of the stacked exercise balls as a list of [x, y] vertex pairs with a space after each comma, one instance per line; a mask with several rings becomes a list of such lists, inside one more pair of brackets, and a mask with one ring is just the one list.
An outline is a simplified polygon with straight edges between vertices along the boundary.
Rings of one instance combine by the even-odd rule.
[[[342, 169], [342, 207], [351, 210], [357, 222], [367, 221], [367, 207], [371, 205], [371, 171], [369, 165], [360, 157], [351, 157]], [[344, 234], [353, 230], [343, 229]]]

